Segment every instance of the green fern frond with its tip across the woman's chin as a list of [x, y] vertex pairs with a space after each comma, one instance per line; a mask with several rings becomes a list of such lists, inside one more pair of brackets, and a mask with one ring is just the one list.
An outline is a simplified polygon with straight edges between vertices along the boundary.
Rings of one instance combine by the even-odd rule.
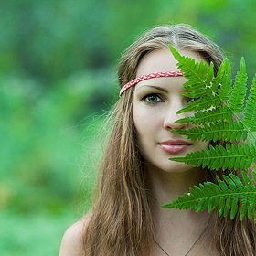
[[210, 144], [209, 148], [201, 151], [188, 153], [184, 157], [172, 157], [171, 161], [193, 165], [194, 167], [208, 166], [210, 170], [248, 169], [256, 160], [256, 147], [251, 144], [226, 144], [226, 149], [222, 145], [217, 145], [215, 148]]

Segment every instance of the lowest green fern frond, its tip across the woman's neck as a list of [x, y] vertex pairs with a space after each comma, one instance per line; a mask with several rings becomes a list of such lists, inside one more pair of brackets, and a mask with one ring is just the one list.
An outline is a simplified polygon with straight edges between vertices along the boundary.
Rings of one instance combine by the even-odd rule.
[[[254, 182], [256, 173], [252, 172]], [[223, 181], [219, 179], [218, 185], [212, 182], [205, 182], [199, 187], [189, 188], [188, 194], [178, 197], [172, 203], [162, 206], [162, 208], [195, 209], [201, 212], [208, 208], [210, 213], [219, 205], [219, 216], [226, 217], [230, 211], [230, 219], [234, 219], [238, 211], [238, 202], [241, 201], [240, 220], [243, 220], [246, 213], [251, 219], [256, 206], [256, 187], [251, 184], [249, 176], [242, 171], [243, 183], [238, 176], [230, 174], [223, 176]], [[256, 223], [256, 213], [254, 216]]]

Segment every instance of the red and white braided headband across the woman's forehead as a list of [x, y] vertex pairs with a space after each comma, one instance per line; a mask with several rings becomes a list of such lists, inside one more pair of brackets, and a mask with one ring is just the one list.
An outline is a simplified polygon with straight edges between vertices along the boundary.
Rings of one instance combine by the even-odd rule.
[[142, 80], [149, 80], [149, 79], [154, 79], [154, 78], [163, 78], [163, 77], [180, 77], [183, 76], [183, 72], [180, 71], [165, 71], [165, 72], [156, 72], [156, 73], [150, 73], [141, 77], [138, 77], [134, 80], [131, 80], [127, 82], [121, 89], [119, 93], [119, 97], [121, 97], [123, 91], [126, 91], [136, 83], [142, 81]]

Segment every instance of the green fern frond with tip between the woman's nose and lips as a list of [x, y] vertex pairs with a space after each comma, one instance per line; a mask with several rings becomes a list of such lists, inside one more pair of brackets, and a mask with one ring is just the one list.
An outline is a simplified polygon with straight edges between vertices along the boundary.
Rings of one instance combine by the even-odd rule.
[[233, 142], [240, 140], [240, 138], [245, 141], [248, 137], [248, 132], [244, 129], [243, 124], [237, 121], [216, 122], [211, 125], [204, 123], [203, 127], [192, 127], [188, 130], [176, 129], [172, 130], [172, 133], [186, 135], [192, 142], [197, 140], [206, 142], [211, 140], [213, 142], [218, 140]]

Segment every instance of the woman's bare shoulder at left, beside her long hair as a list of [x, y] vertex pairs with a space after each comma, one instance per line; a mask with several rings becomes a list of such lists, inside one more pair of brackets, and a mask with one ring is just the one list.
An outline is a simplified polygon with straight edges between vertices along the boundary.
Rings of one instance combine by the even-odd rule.
[[83, 256], [83, 230], [86, 228], [91, 215], [80, 219], [66, 230], [60, 245], [59, 256]]

